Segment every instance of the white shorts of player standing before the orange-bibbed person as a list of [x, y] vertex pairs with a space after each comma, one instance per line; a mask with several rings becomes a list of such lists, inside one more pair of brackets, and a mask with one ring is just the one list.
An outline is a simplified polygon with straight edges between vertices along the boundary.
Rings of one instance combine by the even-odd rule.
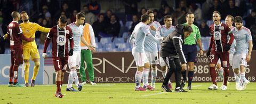
[[74, 51], [72, 56], [68, 56], [68, 67], [69, 69], [76, 67], [80, 69], [81, 66], [81, 51]]

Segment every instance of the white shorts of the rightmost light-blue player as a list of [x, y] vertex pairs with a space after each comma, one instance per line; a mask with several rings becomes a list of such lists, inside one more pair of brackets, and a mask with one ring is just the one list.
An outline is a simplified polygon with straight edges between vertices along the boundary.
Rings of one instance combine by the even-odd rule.
[[233, 59], [233, 69], [240, 69], [240, 66], [247, 66], [246, 54], [235, 54]]

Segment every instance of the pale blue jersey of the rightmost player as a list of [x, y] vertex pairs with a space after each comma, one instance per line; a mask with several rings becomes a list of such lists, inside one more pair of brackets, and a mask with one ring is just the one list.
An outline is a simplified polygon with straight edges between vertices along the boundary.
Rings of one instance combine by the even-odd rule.
[[234, 28], [232, 30], [234, 37], [236, 39], [235, 42], [235, 53], [234, 54], [247, 54], [248, 53], [248, 41], [252, 41], [251, 31], [242, 26], [240, 30]]

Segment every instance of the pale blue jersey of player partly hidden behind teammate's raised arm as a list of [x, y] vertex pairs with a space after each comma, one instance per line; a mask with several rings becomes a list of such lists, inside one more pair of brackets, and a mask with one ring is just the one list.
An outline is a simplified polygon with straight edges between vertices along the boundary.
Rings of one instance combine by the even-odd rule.
[[[159, 22], [154, 21], [154, 22], [152, 22], [152, 23], [150, 23], [150, 24], [148, 25], [148, 28], [150, 28], [150, 26], [154, 26], [154, 27], [157, 29], [157, 28], [160, 27], [161, 25], [160, 25]], [[155, 31], [155, 30], [151, 30], [151, 29], [149, 29], [149, 30], [150, 30], [150, 33], [151, 33], [153, 36], [156, 35], [156, 31]], [[149, 37], [146, 37], [146, 38], [145, 38], [144, 47], [145, 47], [145, 51], [146, 51], [146, 52], [157, 52], [157, 51], [158, 51], [158, 50], [157, 50], [157, 43], [156, 43], [152, 38], [149, 38]]]

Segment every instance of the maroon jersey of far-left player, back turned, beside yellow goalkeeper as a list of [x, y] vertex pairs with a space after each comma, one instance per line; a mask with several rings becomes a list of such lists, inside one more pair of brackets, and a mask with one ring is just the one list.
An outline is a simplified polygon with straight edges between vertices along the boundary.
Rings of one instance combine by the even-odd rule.
[[22, 39], [31, 41], [22, 34], [21, 27], [17, 21], [12, 21], [7, 27], [7, 37], [10, 39], [11, 50], [22, 48]]

